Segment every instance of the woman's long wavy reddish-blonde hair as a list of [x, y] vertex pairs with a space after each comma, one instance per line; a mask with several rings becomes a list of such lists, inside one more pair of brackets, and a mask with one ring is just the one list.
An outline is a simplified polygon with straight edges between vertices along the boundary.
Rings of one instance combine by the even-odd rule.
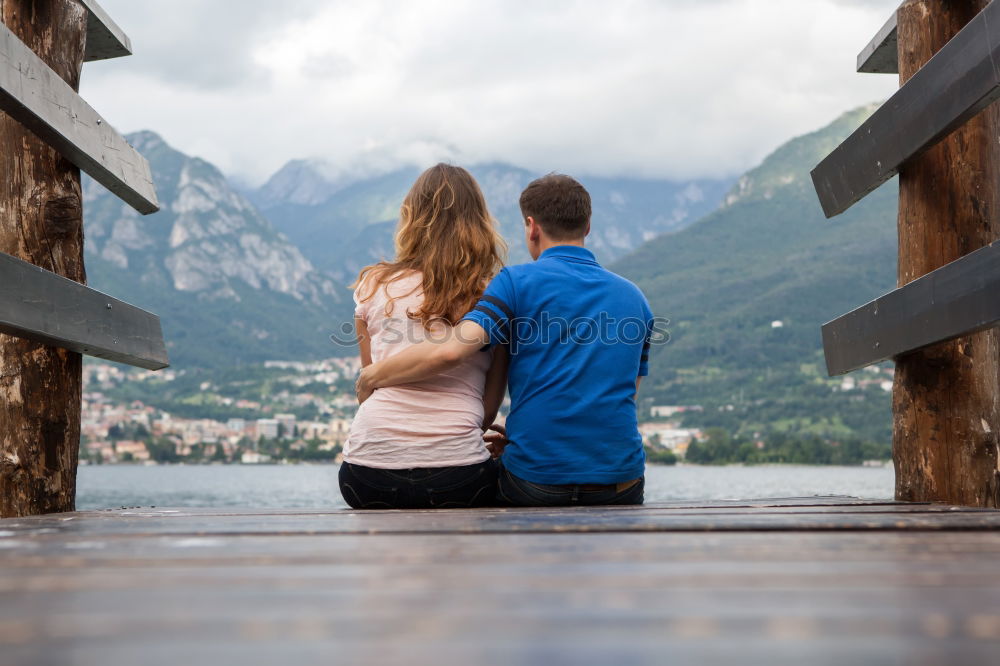
[[[441, 320], [454, 326], [475, 307], [506, 252], [476, 179], [461, 167], [437, 164], [420, 174], [403, 200], [395, 261], [365, 267], [351, 286], [361, 286], [364, 293], [358, 296], [364, 302], [378, 289], [419, 271], [423, 303], [407, 316], [425, 329]], [[395, 298], [390, 295], [386, 316]]]

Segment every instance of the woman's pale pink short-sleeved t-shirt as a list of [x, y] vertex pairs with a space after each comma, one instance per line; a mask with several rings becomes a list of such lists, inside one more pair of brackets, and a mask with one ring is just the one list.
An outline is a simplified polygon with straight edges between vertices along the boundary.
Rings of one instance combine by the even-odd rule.
[[[423, 302], [419, 273], [380, 286], [363, 303], [359, 293], [368, 293], [366, 285], [354, 292], [355, 314], [368, 325], [373, 361], [446, 331], [447, 324], [440, 323], [428, 334], [419, 320], [407, 317]], [[390, 294], [396, 300], [386, 314]], [[491, 358], [488, 351], [477, 353], [431, 379], [375, 391], [354, 417], [344, 460], [381, 469], [451, 467], [487, 460], [483, 390]]]

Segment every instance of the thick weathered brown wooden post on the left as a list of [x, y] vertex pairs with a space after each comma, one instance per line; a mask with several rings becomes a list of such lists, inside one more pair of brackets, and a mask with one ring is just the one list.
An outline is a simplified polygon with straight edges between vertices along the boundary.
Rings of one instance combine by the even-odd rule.
[[[0, 21], [74, 90], [87, 18], [75, 0], [0, 1]], [[80, 172], [3, 113], [0, 251], [85, 282]], [[0, 334], [0, 517], [74, 509], [81, 364], [77, 353]]]

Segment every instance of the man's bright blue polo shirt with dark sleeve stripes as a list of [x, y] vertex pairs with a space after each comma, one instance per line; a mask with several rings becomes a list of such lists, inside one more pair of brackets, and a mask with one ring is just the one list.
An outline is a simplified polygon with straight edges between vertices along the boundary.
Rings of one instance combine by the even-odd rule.
[[511, 473], [551, 485], [642, 476], [635, 381], [648, 373], [653, 315], [638, 287], [560, 245], [500, 271], [464, 318], [510, 348]]

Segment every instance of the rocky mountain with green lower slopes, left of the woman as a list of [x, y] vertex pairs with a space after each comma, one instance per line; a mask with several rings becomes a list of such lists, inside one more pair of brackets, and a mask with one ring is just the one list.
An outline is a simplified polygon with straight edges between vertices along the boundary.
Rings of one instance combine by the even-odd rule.
[[84, 181], [89, 284], [160, 315], [175, 367], [333, 355], [350, 292], [316, 270], [226, 177], [152, 132], [129, 141], [149, 160], [162, 208], [142, 217]]

